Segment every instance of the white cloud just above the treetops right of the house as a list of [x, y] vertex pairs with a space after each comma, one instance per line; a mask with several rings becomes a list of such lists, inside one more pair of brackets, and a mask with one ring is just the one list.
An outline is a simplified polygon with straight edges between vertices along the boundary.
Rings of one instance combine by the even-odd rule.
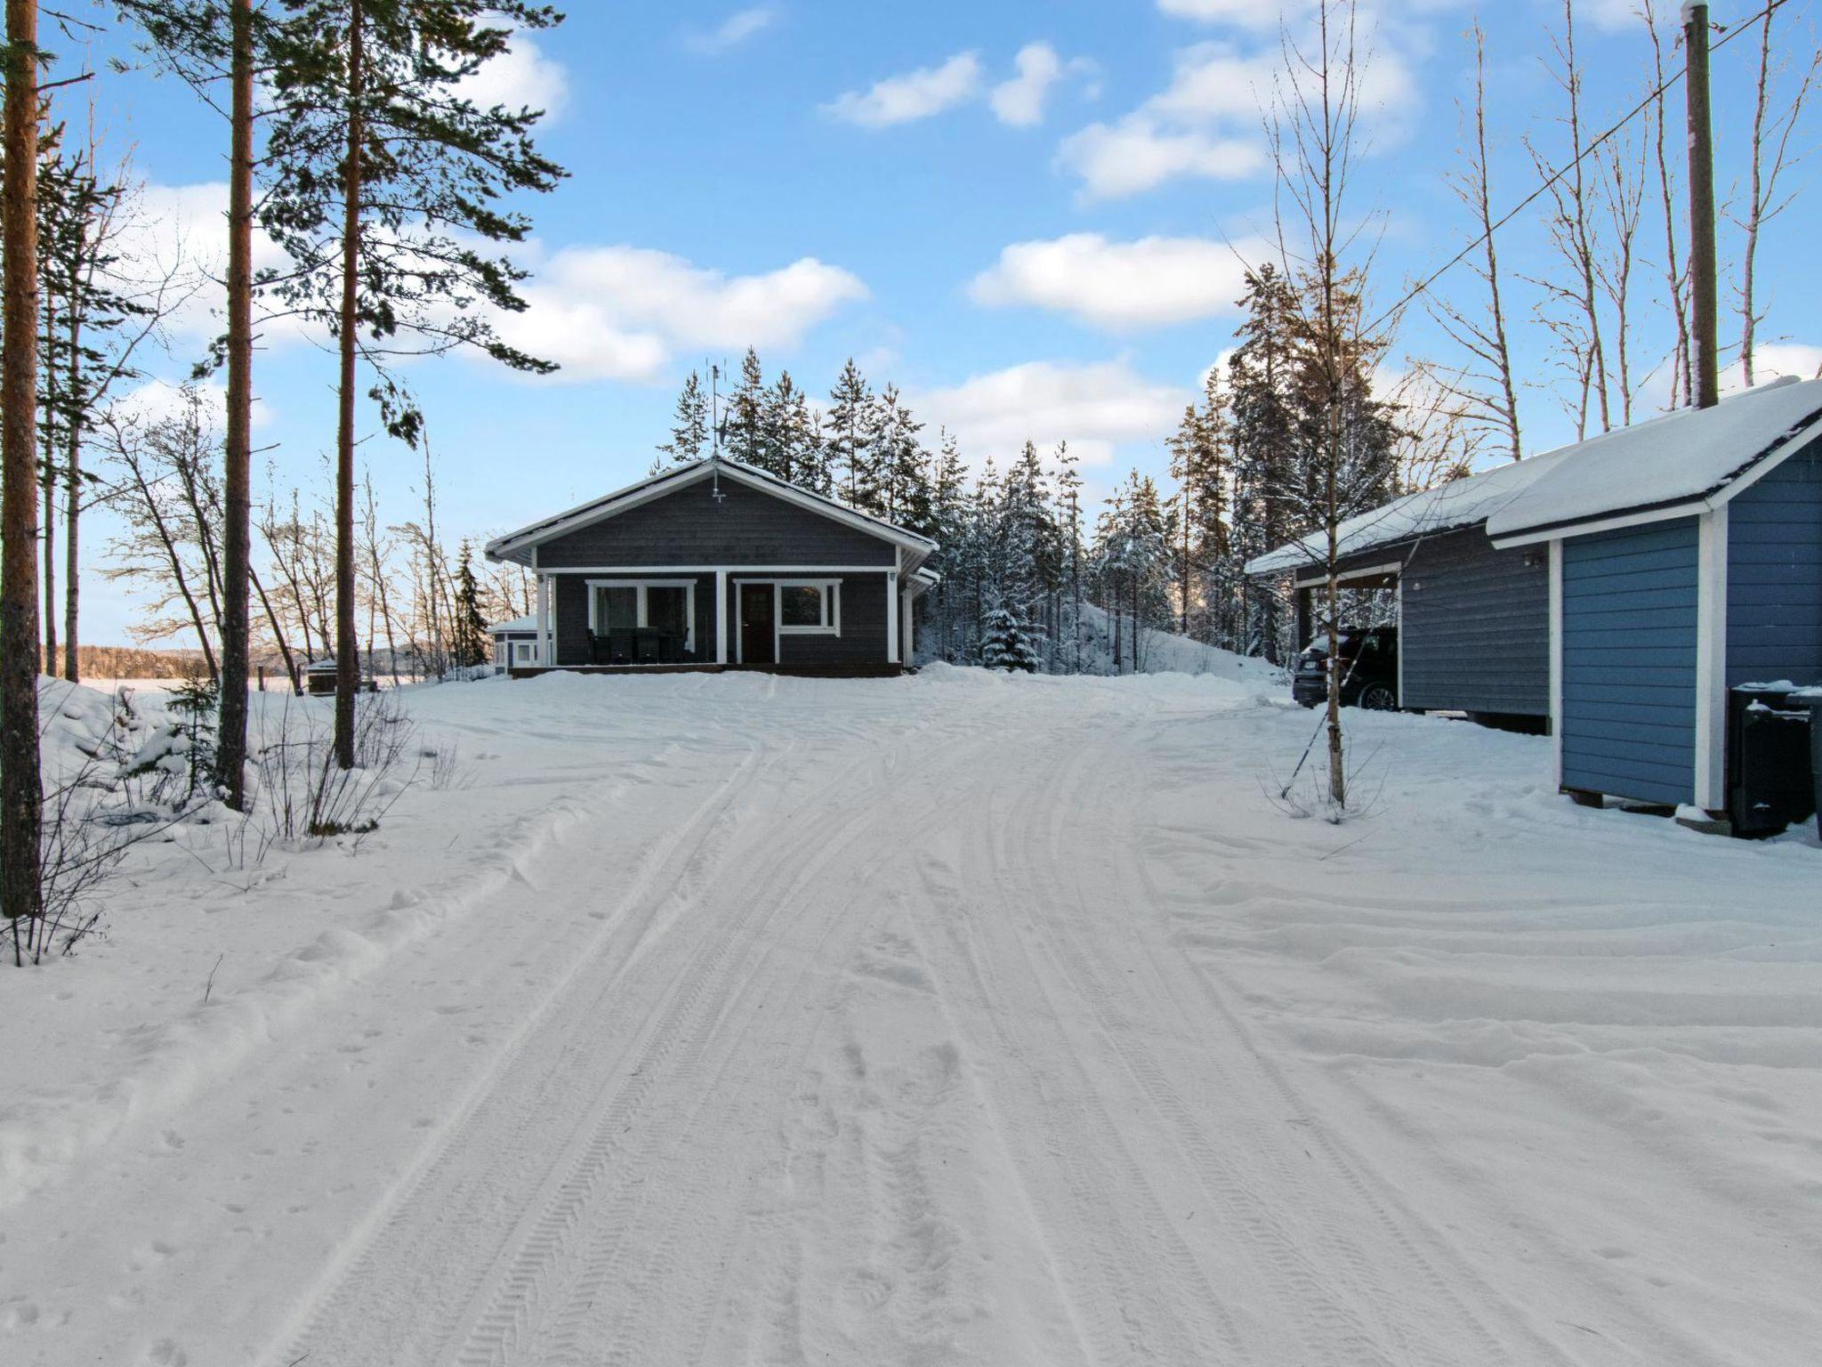
[[993, 456], [1004, 467], [1029, 439], [1046, 454], [1068, 441], [1086, 465], [1106, 465], [1124, 443], [1161, 441], [1193, 397], [1144, 379], [1126, 361], [1029, 361], [909, 394], [907, 403], [931, 427], [955, 432], [975, 463]]

